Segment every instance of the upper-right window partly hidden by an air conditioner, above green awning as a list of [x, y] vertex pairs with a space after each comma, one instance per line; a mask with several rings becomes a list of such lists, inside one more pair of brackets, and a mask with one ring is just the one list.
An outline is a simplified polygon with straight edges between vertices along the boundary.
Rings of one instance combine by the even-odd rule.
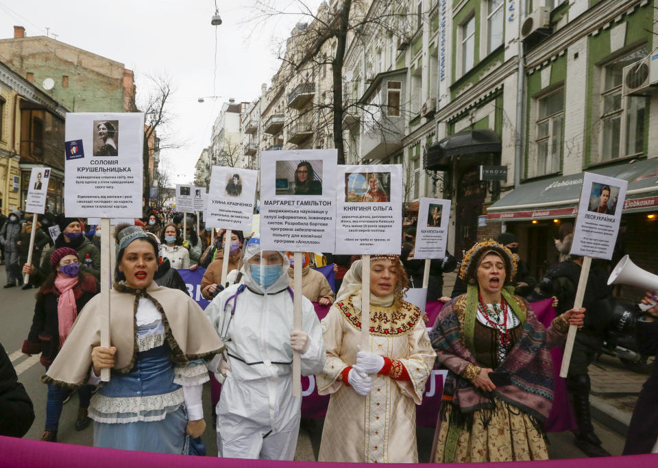
[[598, 162], [644, 151], [646, 97], [622, 96], [622, 69], [645, 58], [648, 53], [648, 50], [642, 47], [614, 60], [603, 69]]

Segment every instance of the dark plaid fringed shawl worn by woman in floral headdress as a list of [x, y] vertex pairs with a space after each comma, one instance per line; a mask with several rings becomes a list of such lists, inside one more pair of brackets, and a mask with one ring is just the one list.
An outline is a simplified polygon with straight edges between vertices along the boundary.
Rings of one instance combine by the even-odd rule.
[[[480, 412], [487, 427], [500, 404], [516, 408], [515, 412], [521, 410], [530, 417], [540, 434], [543, 432], [541, 424], [548, 418], [553, 399], [553, 373], [552, 359], [545, 344], [546, 330], [523, 299], [505, 289], [502, 297], [508, 301], [523, 326], [520, 338], [498, 369], [494, 369], [509, 373], [512, 385], [485, 392], [476, 389], [470, 380], [461, 375], [448, 372], [439, 415], [441, 421], [450, 421], [444, 462], [454, 460], [458, 432], [472, 429], [475, 412]], [[429, 334], [432, 347], [437, 352], [477, 365], [473, 343], [477, 305], [477, 286], [472, 285], [467, 294], [443, 306]], [[449, 416], [448, 407], [451, 409]]]

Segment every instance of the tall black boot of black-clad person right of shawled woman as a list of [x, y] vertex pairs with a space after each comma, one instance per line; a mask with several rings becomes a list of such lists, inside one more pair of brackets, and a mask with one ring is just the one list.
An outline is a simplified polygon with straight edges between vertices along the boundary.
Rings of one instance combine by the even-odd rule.
[[606, 449], [601, 447], [601, 439], [594, 434], [592, 415], [589, 411], [589, 375], [569, 375], [567, 385], [574, 402], [578, 430], [576, 431], [576, 447], [587, 456], [610, 456]]

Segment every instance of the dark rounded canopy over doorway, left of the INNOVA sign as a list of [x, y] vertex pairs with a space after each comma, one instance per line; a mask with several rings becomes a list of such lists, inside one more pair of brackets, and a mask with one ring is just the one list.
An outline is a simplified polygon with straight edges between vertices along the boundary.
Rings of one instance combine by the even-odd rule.
[[428, 171], [448, 171], [455, 156], [500, 153], [500, 150], [500, 136], [493, 130], [464, 130], [428, 147], [423, 166]]

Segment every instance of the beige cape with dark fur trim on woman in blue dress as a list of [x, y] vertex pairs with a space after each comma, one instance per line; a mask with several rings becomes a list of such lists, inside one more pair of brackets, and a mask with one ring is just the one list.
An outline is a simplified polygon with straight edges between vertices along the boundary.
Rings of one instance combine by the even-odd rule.
[[[135, 314], [141, 297], [153, 301], [162, 313], [162, 325], [171, 348], [171, 360], [184, 364], [188, 360], [212, 359], [225, 348], [217, 332], [199, 305], [178, 289], [164, 288], [151, 282], [145, 291], [125, 284], [115, 284], [110, 291], [110, 343], [117, 347], [114, 369], [127, 373], [134, 365], [137, 326]], [[84, 307], [62, 349], [42, 382], [75, 389], [84, 385], [92, 364], [92, 349], [100, 345], [99, 306], [96, 295]]]

